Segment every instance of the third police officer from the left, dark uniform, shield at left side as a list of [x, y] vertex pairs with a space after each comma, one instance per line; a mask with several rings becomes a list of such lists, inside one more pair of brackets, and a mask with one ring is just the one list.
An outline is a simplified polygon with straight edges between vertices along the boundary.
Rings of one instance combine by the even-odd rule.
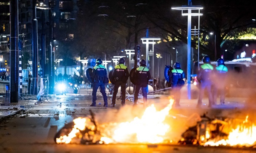
[[149, 69], [146, 67], [145, 60], [139, 61], [139, 67], [137, 67], [134, 72], [134, 79], [136, 80], [136, 85], [135, 85], [135, 91], [134, 91], [134, 104], [133, 105], [137, 105], [139, 90], [141, 88], [143, 102], [144, 102], [144, 106], [145, 106], [146, 102], [147, 102], [146, 89], [148, 86], [149, 79], [151, 79], [151, 75], [150, 75]]

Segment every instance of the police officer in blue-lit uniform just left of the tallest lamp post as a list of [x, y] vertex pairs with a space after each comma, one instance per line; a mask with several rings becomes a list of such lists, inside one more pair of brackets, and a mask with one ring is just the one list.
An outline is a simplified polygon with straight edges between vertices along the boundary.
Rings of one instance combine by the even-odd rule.
[[184, 71], [180, 68], [180, 63], [176, 62], [173, 65], [173, 68], [171, 72], [169, 73], [170, 82], [172, 84], [172, 92], [174, 96], [174, 103], [173, 105], [178, 107], [180, 106], [180, 89], [182, 86], [178, 85], [178, 79], [185, 78]]

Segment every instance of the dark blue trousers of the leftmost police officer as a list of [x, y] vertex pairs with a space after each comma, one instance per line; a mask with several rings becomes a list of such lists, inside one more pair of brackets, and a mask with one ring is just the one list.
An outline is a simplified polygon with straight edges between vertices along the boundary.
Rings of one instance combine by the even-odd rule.
[[93, 93], [92, 93], [93, 104], [96, 104], [96, 100], [97, 100], [96, 93], [99, 87], [100, 87], [100, 92], [102, 93], [102, 96], [103, 96], [104, 103], [107, 103], [107, 94], [105, 92], [105, 84], [103, 84], [103, 82], [95, 82], [93, 84]]

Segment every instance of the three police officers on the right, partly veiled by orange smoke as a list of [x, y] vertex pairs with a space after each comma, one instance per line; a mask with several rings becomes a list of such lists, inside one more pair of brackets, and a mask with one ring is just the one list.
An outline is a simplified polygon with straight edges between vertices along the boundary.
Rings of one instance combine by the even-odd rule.
[[[207, 91], [209, 99], [208, 107], [211, 108], [217, 104], [218, 93], [220, 95], [220, 104], [224, 105], [225, 101], [225, 87], [227, 82], [228, 69], [224, 64], [224, 60], [219, 58], [217, 60], [217, 66], [213, 67], [210, 64], [210, 57], [204, 56], [202, 58], [203, 65], [197, 73], [199, 95], [197, 101], [197, 108], [202, 106], [202, 98]], [[173, 95], [174, 103], [173, 106], [180, 106], [180, 89], [182, 86], [178, 85], [178, 79], [185, 78], [184, 71], [180, 68], [180, 63], [176, 62], [173, 65], [173, 69], [168, 74], [170, 83], [172, 86], [171, 95]]]

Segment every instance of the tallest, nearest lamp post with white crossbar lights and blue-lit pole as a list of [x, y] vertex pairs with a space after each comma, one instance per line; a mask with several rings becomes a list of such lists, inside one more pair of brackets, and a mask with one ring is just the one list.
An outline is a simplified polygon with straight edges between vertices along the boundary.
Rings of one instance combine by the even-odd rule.
[[[202, 13], [200, 13], [200, 10], [203, 9], [202, 6], [193, 6], [192, 0], [188, 0], [188, 6], [181, 6], [181, 7], [171, 7], [173, 10], [181, 10], [183, 16], [188, 16], [188, 68], [187, 68], [187, 75], [188, 75], [188, 99], [191, 99], [191, 91], [190, 91], [190, 74], [191, 74], [191, 17], [192, 16], [198, 16], [198, 30], [199, 30], [199, 19]], [[183, 12], [183, 10], [187, 10]], [[192, 12], [193, 10], [193, 12]], [[195, 12], [198, 11], [198, 12]]]

